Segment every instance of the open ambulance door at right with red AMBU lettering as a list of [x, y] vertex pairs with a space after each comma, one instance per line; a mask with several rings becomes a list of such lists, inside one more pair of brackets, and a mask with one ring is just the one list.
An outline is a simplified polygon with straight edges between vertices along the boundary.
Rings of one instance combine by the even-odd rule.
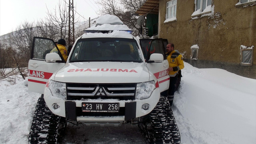
[[142, 47], [142, 51], [144, 53], [144, 57], [146, 58], [146, 62], [150, 59], [150, 55], [154, 53], [162, 54], [164, 56], [164, 60], [161, 62], [148, 62], [148, 69], [156, 76], [160, 92], [168, 90], [170, 84], [169, 77], [169, 64], [166, 59], [165, 54], [165, 46], [162, 38], [159, 39], [140, 39], [140, 45]]

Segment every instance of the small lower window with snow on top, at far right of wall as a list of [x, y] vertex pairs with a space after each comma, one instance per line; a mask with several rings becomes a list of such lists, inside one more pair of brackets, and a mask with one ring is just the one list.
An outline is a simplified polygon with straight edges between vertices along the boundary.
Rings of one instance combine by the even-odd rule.
[[241, 65], [252, 66], [254, 46], [240, 46]]

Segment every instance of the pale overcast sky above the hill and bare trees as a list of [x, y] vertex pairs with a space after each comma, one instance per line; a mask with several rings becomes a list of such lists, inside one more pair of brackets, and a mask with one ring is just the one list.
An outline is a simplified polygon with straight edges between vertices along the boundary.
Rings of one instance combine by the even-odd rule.
[[[16, 30], [24, 22], [37, 22], [44, 19], [48, 10], [54, 12], [58, 3], [64, 4], [65, 0], [0, 0], [0, 36]], [[96, 18], [100, 6], [97, 0], [74, 0], [74, 10], [80, 21]], [[68, 3], [69, 0], [66, 0]], [[47, 6], [47, 8], [46, 8]], [[80, 16], [80, 15], [81, 16]], [[84, 18], [85, 19], [84, 19]]]

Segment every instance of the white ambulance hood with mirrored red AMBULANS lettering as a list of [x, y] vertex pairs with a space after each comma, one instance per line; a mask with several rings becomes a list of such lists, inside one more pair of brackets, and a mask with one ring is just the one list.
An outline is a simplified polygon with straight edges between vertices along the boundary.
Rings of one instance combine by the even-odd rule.
[[145, 63], [72, 62], [58, 70], [53, 80], [75, 83], [138, 83], [149, 80]]

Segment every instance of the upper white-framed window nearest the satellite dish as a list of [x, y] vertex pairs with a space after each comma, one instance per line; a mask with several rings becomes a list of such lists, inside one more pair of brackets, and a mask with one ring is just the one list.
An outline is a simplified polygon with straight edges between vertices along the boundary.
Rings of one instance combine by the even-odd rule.
[[177, 0], [171, 0], [166, 4], [166, 20], [164, 22], [174, 21], [176, 19]]

